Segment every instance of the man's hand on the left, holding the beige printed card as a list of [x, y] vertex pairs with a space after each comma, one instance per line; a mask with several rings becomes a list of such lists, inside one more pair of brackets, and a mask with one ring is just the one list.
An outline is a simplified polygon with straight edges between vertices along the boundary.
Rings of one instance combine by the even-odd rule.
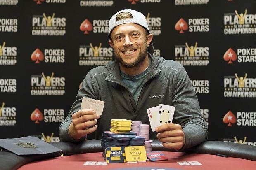
[[69, 135], [73, 139], [78, 140], [94, 132], [98, 127], [96, 125], [97, 119], [100, 118], [100, 115], [95, 113], [95, 110], [92, 109], [83, 109], [74, 113], [72, 115], [73, 121], [69, 125]]

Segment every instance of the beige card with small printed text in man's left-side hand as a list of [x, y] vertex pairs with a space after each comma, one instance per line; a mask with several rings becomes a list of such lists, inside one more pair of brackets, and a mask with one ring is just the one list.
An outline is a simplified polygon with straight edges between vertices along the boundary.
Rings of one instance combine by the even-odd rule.
[[104, 104], [105, 102], [103, 101], [83, 97], [81, 110], [94, 109], [96, 114], [102, 115]]

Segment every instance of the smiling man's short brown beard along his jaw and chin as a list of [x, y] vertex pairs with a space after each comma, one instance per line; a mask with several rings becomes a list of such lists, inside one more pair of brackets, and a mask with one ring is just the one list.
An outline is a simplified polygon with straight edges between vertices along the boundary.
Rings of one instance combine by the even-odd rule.
[[114, 50], [114, 53], [115, 53], [115, 56], [116, 56], [116, 60], [121, 64], [123, 65], [123, 67], [126, 67], [126, 68], [132, 68], [132, 67], [135, 67], [135, 66], [138, 66], [140, 65], [146, 58], [147, 56], [147, 44], [145, 43], [145, 48], [142, 48], [139, 55], [137, 56], [137, 58], [135, 59], [135, 61], [131, 62], [131, 63], [127, 63], [125, 61], [123, 61], [123, 58], [121, 58], [121, 56], [119, 55], [119, 53], [117, 53], [115, 50]]

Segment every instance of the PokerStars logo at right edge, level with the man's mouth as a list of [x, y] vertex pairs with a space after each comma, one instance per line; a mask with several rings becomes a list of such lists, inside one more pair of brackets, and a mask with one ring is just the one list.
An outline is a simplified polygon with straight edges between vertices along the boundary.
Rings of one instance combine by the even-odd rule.
[[243, 48], [237, 49], [237, 53], [229, 48], [224, 56], [225, 61], [228, 61], [228, 64], [232, 64], [232, 61], [236, 61], [238, 63], [255, 63], [256, 62], [256, 48]]

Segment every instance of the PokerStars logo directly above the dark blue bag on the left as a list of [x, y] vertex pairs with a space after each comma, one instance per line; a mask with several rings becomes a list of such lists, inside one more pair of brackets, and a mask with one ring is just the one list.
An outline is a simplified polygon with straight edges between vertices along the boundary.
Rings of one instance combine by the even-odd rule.
[[39, 124], [39, 121], [44, 121], [45, 123], [56, 123], [64, 121], [64, 109], [43, 109], [43, 113], [36, 108], [30, 115], [31, 121], [35, 121]]

